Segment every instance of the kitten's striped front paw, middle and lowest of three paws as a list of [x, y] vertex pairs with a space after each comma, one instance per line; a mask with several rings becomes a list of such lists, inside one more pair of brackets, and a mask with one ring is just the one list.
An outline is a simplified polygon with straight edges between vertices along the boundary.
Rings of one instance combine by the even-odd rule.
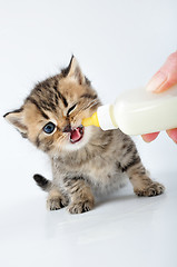
[[78, 202], [71, 202], [68, 207], [70, 214], [82, 214], [94, 208], [94, 201], [85, 200]]

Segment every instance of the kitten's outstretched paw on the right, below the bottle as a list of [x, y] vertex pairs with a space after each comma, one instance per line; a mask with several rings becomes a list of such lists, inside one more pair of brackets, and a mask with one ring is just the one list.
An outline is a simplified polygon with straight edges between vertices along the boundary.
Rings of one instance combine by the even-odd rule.
[[145, 187], [144, 189], [135, 189], [134, 191], [138, 197], [154, 197], [163, 194], [165, 187], [161, 184], [154, 181], [148, 185], [148, 187]]

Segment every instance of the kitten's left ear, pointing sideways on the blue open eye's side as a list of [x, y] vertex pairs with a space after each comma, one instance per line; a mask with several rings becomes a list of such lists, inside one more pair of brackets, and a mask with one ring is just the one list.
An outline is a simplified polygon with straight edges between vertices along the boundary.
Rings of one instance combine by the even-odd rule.
[[22, 137], [27, 137], [27, 127], [23, 123], [23, 112], [22, 109], [14, 110], [12, 112], [8, 112], [3, 116], [3, 118], [14, 126], [14, 128], [20, 131]]

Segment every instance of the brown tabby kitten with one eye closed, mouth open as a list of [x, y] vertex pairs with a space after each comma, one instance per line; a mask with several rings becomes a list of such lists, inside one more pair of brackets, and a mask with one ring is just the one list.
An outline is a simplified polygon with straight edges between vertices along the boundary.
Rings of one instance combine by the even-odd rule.
[[22, 107], [4, 115], [35, 146], [48, 154], [52, 181], [33, 178], [48, 191], [50, 210], [68, 206], [71, 214], [94, 208], [95, 195], [116, 190], [129, 177], [137, 196], [156, 196], [164, 186], [153, 181], [136, 146], [119, 129], [82, 127], [101, 105], [72, 56], [68, 68], [38, 83]]

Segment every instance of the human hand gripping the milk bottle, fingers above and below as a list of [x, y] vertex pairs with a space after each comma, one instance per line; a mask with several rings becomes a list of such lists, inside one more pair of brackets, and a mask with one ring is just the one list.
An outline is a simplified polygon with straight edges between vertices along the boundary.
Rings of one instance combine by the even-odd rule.
[[[146, 89], [159, 93], [175, 85], [177, 85], [177, 51], [167, 58], [163, 67], [153, 76]], [[177, 144], [177, 128], [167, 130], [166, 132]], [[158, 135], [159, 131], [142, 135], [141, 137], [144, 141], [150, 142], [155, 140]]]

